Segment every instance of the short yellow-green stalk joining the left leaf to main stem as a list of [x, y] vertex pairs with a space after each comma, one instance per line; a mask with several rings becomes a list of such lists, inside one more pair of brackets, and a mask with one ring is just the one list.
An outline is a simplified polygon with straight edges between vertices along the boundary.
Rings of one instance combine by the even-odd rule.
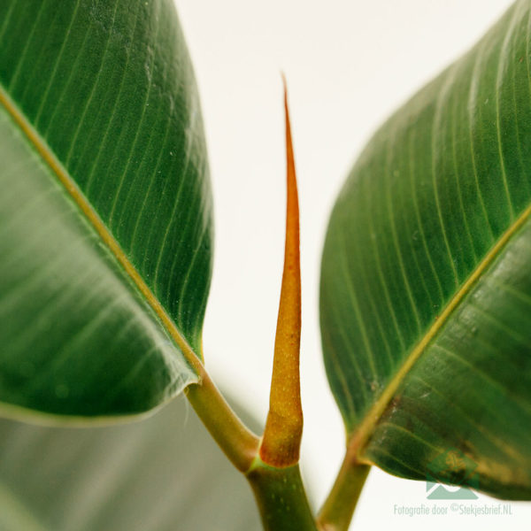
[[200, 364], [201, 381], [184, 390], [197, 415], [221, 450], [240, 471], [247, 472], [258, 453], [260, 440], [238, 418]]

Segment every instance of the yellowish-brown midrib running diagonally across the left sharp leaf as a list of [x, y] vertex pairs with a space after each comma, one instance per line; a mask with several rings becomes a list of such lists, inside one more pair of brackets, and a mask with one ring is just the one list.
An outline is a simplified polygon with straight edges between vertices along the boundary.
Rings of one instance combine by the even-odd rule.
[[68, 194], [73, 198], [73, 201], [80, 208], [81, 212], [89, 221], [91, 227], [96, 230], [97, 235], [104, 242], [106, 248], [112, 252], [125, 270], [127, 277], [133, 281], [136, 288], [142, 294], [144, 300], [150, 305], [153, 312], [156, 313], [161, 326], [172, 337], [176, 346], [181, 350], [182, 355], [189, 363], [189, 366], [201, 378], [204, 372], [203, 365], [199, 360], [199, 356], [190, 347], [189, 342], [181, 334], [179, 328], [176, 327], [173, 319], [165, 311], [164, 307], [158, 301], [158, 298], [153, 294], [149, 286], [142, 279], [142, 276], [136, 270], [135, 266], [127, 258], [127, 255], [121, 249], [119, 242], [114, 238], [110, 230], [105, 226], [100, 219], [97, 212], [94, 210], [88, 199], [84, 196], [81, 189], [77, 186], [70, 174], [65, 170], [58, 158], [55, 157], [50, 146], [42, 139], [41, 135], [35, 130], [30, 121], [26, 118], [23, 112], [19, 111], [16, 104], [13, 103], [11, 97], [7, 94], [2, 84], [0, 84], [0, 104], [12, 117], [15, 123], [19, 126], [23, 135], [26, 136], [27, 141], [34, 146], [35, 150], [41, 155], [42, 160], [50, 167], [52, 173], [58, 177], [58, 181], [65, 187]]

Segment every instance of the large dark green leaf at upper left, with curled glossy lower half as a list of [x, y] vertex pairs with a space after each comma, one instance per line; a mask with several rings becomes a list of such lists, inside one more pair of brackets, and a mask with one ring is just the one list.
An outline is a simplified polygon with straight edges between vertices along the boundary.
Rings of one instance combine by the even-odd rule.
[[0, 401], [147, 411], [198, 380], [212, 200], [171, 0], [0, 5]]

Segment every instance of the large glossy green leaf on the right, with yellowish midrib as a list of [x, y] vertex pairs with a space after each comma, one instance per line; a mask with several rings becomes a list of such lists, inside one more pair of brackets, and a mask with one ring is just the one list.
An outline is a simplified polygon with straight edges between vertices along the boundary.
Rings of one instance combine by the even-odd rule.
[[321, 277], [328, 379], [358, 458], [527, 499], [530, 19], [529, 0], [513, 4], [374, 135]]

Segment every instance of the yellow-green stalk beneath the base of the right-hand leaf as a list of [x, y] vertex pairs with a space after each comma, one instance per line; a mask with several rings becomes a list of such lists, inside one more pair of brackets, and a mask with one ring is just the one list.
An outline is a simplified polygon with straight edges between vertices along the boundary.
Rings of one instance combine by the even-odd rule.
[[347, 447], [334, 486], [322, 506], [317, 524], [319, 531], [347, 531], [358, 504], [370, 466], [359, 463], [355, 451]]

